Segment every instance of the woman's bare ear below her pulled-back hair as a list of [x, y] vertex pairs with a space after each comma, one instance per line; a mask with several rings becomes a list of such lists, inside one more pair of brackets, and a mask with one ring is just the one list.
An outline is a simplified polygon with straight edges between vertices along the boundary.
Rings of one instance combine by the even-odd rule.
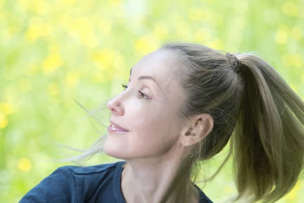
[[194, 116], [181, 132], [181, 144], [185, 147], [201, 142], [212, 130], [213, 118], [209, 114]]

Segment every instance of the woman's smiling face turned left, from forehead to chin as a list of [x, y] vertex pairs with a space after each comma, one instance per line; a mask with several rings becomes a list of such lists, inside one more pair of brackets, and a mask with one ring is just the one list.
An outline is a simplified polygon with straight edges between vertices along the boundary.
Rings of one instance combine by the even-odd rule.
[[176, 79], [177, 63], [170, 50], [143, 57], [131, 70], [127, 89], [108, 101], [110, 121], [128, 131], [113, 131], [104, 143], [106, 154], [120, 158], [161, 156], [178, 145], [182, 129], [177, 113], [184, 99]]

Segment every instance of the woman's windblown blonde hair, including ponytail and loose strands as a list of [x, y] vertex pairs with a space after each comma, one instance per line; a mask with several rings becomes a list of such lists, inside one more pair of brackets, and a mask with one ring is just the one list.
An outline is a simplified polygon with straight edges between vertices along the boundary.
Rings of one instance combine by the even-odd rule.
[[[178, 79], [186, 95], [180, 118], [207, 113], [214, 120], [210, 134], [193, 146], [182, 166], [180, 199], [187, 199], [201, 161], [218, 154], [229, 141], [229, 154], [215, 175], [233, 156], [235, 200], [245, 196], [252, 202], [274, 202], [286, 195], [303, 173], [304, 103], [300, 97], [256, 55], [223, 54], [189, 43], [169, 43], [161, 49], [174, 51], [180, 66]], [[81, 159], [101, 151], [102, 140]]]

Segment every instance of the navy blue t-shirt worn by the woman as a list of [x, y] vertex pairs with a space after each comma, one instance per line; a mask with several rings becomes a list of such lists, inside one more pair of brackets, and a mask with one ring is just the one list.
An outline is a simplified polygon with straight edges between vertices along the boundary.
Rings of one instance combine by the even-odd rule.
[[[126, 203], [121, 191], [123, 164], [126, 161], [94, 166], [62, 166], [25, 194], [27, 202], [106, 202]], [[212, 203], [200, 191], [200, 203]]]

